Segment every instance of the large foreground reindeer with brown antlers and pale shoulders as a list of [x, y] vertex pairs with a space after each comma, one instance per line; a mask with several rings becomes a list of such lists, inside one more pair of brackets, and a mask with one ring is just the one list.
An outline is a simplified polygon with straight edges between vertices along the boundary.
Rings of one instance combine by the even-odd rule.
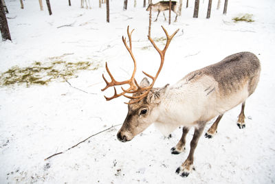
[[[217, 133], [217, 126], [223, 114], [238, 104], [242, 104], [237, 125], [239, 128], [245, 128], [245, 100], [256, 89], [261, 73], [261, 65], [254, 54], [240, 52], [232, 54], [214, 65], [192, 71], [174, 85], [166, 84], [162, 88], [155, 88], [153, 85], [164, 64], [164, 56], [168, 45], [179, 31], [176, 30], [170, 36], [164, 27], [162, 29], [166, 34], [166, 45], [163, 50], [160, 50], [153, 39], [148, 36], [161, 60], [155, 76], [143, 71], [148, 78], [151, 78], [151, 84], [147, 78], [144, 78], [140, 84], [137, 84], [135, 80], [137, 66], [132, 52], [131, 34], [133, 30], [130, 33], [128, 27], [129, 45], [126, 44], [126, 38], [123, 36], [122, 41], [133, 59], [133, 74], [129, 80], [118, 82], [111, 75], [106, 62], [106, 70], [109, 73], [111, 82], [108, 82], [102, 75], [106, 82], [106, 87], [102, 91], [114, 87], [114, 95], [112, 97], [104, 96], [106, 100], [112, 100], [122, 95], [130, 99], [126, 103], [128, 104], [128, 114], [117, 135], [118, 140], [122, 142], [131, 141], [135, 135], [138, 135], [153, 123], [165, 135], [168, 135], [175, 128], [183, 126], [181, 139], [176, 146], [171, 148], [172, 154], [179, 154], [185, 150], [188, 131], [192, 127], [195, 128], [190, 141], [188, 157], [176, 170], [177, 174], [186, 177], [192, 170], [193, 155], [199, 137], [201, 137], [203, 129], [210, 119], [218, 116], [206, 133], [208, 138]], [[123, 84], [129, 84], [129, 89], [122, 88], [122, 93], [117, 93], [115, 86]]]

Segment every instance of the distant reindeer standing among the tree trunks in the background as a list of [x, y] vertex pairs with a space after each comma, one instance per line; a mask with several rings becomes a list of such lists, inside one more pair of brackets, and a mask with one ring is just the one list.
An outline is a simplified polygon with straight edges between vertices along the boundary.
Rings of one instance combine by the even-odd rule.
[[[175, 21], [177, 21], [177, 16], [179, 15], [179, 3], [177, 1], [171, 1], [171, 3], [171, 10], [176, 14]], [[162, 12], [166, 21], [164, 11], [169, 10], [169, 1], [159, 1], [158, 3], [148, 5], [146, 11], [149, 11], [150, 7], [152, 7], [153, 12], [157, 12], [157, 17], [159, 16], [159, 12]], [[157, 21], [157, 18], [155, 19], [155, 21]]]

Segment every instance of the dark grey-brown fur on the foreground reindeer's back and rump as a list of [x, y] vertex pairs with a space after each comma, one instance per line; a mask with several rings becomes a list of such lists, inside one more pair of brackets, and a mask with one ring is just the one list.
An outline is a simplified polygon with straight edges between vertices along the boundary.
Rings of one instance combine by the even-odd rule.
[[212, 76], [219, 84], [223, 95], [234, 93], [248, 83], [250, 95], [259, 82], [261, 65], [259, 59], [250, 52], [232, 54], [214, 65], [193, 71], [186, 77], [188, 80], [198, 80], [201, 76]]

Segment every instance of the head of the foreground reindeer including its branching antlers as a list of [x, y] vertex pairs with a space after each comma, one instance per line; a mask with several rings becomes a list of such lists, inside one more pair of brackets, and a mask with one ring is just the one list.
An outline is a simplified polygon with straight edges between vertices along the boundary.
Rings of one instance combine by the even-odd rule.
[[[126, 38], [122, 36], [122, 41], [126, 47], [126, 49], [131, 54], [131, 57], [134, 62], [134, 69], [133, 74], [129, 80], [124, 80], [122, 82], [116, 81], [113, 76], [111, 75], [111, 72], [109, 71], [109, 68], [107, 66], [106, 62], [106, 70], [107, 73], [109, 73], [109, 76], [111, 78], [111, 82], [108, 82], [106, 78], [104, 78], [104, 75], [102, 75], [104, 81], [106, 82], [106, 87], [102, 89], [102, 91], [106, 90], [109, 87], [113, 87], [115, 94], [112, 97], [106, 97], [106, 100], [112, 100], [115, 97], [120, 97], [121, 95], [124, 95], [124, 97], [127, 97], [130, 99], [129, 102], [125, 103], [128, 104], [128, 114], [126, 116], [126, 119], [124, 120], [124, 123], [120, 130], [118, 131], [118, 139], [122, 142], [130, 141], [135, 137], [135, 135], [141, 133], [143, 130], [145, 130], [148, 126], [150, 126], [157, 117], [159, 116], [159, 111], [157, 107], [159, 106], [159, 103], [162, 100], [162, 93], [165, 93], [166, 87], [159, 89], [159, 88], [153, 88], [153, 85], [155, 84], [155, 80], [157, 79], [157, 76], [159, 75], [159, 72], [162, 69], [162, 66], [164, 64], [164, 56], [165, 52], [168, 48], [168, 45], [170, 44], [170, 41], [172, 40], [173, 36], [179, 31], [175, 31], [171, 36], [168, 35], [167, 31], [162, 27], [166, 34], [166, 45], [163, 50], [160, 50], [156, 45], [153, 39], [148, 36], [148, 39], [151, 41], [153, 47], [157, 50], [159, 53], [161, 62], [159, 69], [155, 75], [155, 77], [149, 75], [148, 73], [145, 73], [142, 71], [148, 78], [151, 78], [152, 82], [151, 84], [148, 82], [147, 78], [144, 78], [140, 84], [137, 84], [137, 81], [135, 80], [135, 71], [136, 71], [136, 62], [135, 57], [133, 56], [132, 52], [132, 43], [131, 43], [131, 33], [129, 32], [129, 26], [127, 27], [127, 34], [129, 37], [129, 45], [126, 44]], [[123, 84], [129, 84], [129, 89], [123, 89], [122, 93], [117, 93], [115, 86], [123, 85]], [[131, 93], [133, 95], [129, 96], [126, 95], [126, 93]]]

